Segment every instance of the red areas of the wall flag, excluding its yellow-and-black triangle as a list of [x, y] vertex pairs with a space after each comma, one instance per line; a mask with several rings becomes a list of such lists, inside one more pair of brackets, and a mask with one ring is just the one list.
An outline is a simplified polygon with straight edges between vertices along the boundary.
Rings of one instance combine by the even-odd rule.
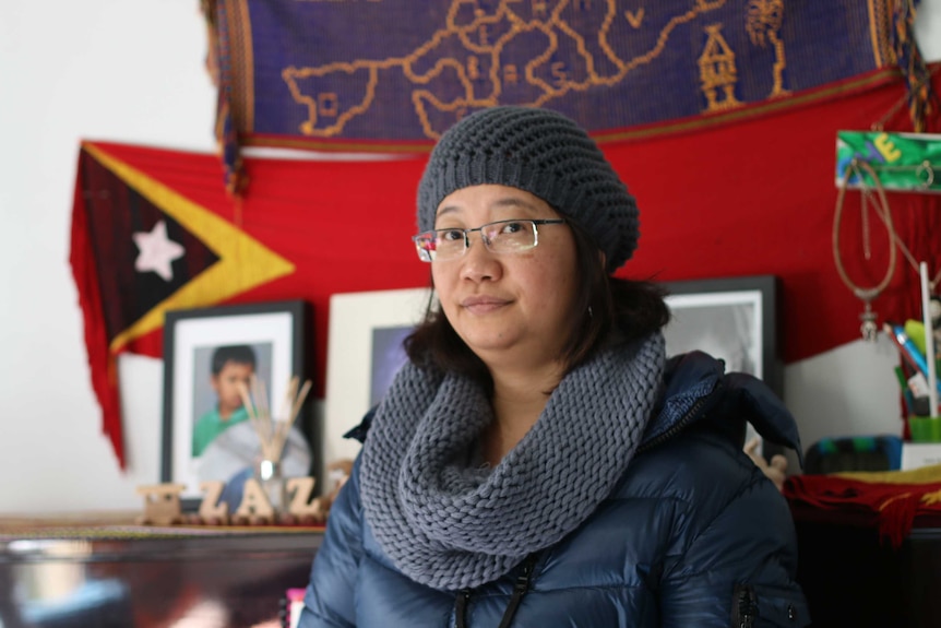
[[[784, 291], [779, 346], [786, 363], [859, 337], [862, 306], [841, 282], [831, 250], [836, 131], [869, 128], [904, 95], [903, 83], [895, 81], [834, 100], [783, 106], [774, 115], [737, 125], [605, 142], [604, 151], [641, 208], [640, 249], [619, 274], [659, 281], [778, 275]], [[904, 118], [904, 107], [900, 115]], [[226, 303], [291, 298], [311, 303], [314, 333], [309, 334], [309, 355], [315, 356], [318, 396], [324, 390], [330, 295], [428, 285], [429, 269], [416, 259], [409, 241], [424, 156], [369, 163], [246, 158], [250, 185], [238, 200], [227, 194], [214, 155], [104, 142], [90, 145], [222, 216], [295, 264], [293, 274]], [[892, 194], [890, 202], [896, 228], [916, 259], [937, 269], [941, 242], [931, 234], [941, 221], [939, 198]], [[72, 263], [93, 381], [106, 430], [119, 451], [117, 395], [105, 386], [107, 343], [102, 344], [98, 332], [100, 308], [95, 301], [102, 295], [84, 272], [96, 253], [75, 233], [83, 221], [78, 189], [74, 212]], [[853, 224], [858, 212], [848, 208], [846, 214], [847, 228], [858, 228]], [[874, 250], [868, 265], [860, 263], [858, 230], [845, 238], [843, 250], [848, 271], [863, 285], [877, 283], [885, 269], [884, 230], [873, 224], [872, 233]], [[917, 294], [918, 277], [900, 258], [890, 291], [874, 304], [880, 320], [917, 317]], [[160, 330], [132, 339], [123, 348], [159, 356]]]

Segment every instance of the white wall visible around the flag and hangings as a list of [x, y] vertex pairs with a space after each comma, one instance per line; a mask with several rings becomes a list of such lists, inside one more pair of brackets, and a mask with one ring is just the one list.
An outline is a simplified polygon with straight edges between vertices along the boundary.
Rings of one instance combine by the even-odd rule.
[[[90, 383], [69, 228], [80, 139], [214, 150], [198, 4], [0, 5], [0, 514], [139, 509], [134, 487], [159, 478], [163, 363], [120, 360], [122, 474]], [[930, 59], [939, 34], [941, 0], [925, 0]], [[895, 363], [886, 342], [857, 342], [788, 367], [805, 442], [896, 430]]]

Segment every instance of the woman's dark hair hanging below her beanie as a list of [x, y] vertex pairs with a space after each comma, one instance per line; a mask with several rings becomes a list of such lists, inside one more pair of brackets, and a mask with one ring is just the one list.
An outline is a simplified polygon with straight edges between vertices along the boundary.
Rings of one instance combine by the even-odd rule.
[[[565, 363], [565, 374], [592, 357], [612, 327], [617, 325], [620, 341], [627, 343], [662, 329], [670, 319], [663, 287], [609, 276], [591, 236], [577, 224], [568, 224], [575, 239], [575, 272], [582, 281], [570, 312], [574, 331], [559, 356]], [[490, 371], [461, 340], [440, 306], [434, 306], [433, 295], [425, 320], [405, 339], [405, 352], [420, 367], [469, 377], [492, 393]]]

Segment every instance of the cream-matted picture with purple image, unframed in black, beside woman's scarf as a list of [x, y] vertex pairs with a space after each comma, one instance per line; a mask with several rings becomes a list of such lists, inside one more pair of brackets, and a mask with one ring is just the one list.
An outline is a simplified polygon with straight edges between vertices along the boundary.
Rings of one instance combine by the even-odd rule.
[[330, 297], [323, 462], [354, 459], [359, 443], [343, 435], [359, 425], [405, 364], [402, 341], [421, 321], [430, 288]]

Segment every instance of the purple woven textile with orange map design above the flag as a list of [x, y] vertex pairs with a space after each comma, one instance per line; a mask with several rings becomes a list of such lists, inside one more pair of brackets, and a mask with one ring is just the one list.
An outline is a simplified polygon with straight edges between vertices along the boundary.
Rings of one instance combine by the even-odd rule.
[[623, 129], [884, 62], [884, 0], [242, 1], [255, 133], [427, 141], [498, 104]]

